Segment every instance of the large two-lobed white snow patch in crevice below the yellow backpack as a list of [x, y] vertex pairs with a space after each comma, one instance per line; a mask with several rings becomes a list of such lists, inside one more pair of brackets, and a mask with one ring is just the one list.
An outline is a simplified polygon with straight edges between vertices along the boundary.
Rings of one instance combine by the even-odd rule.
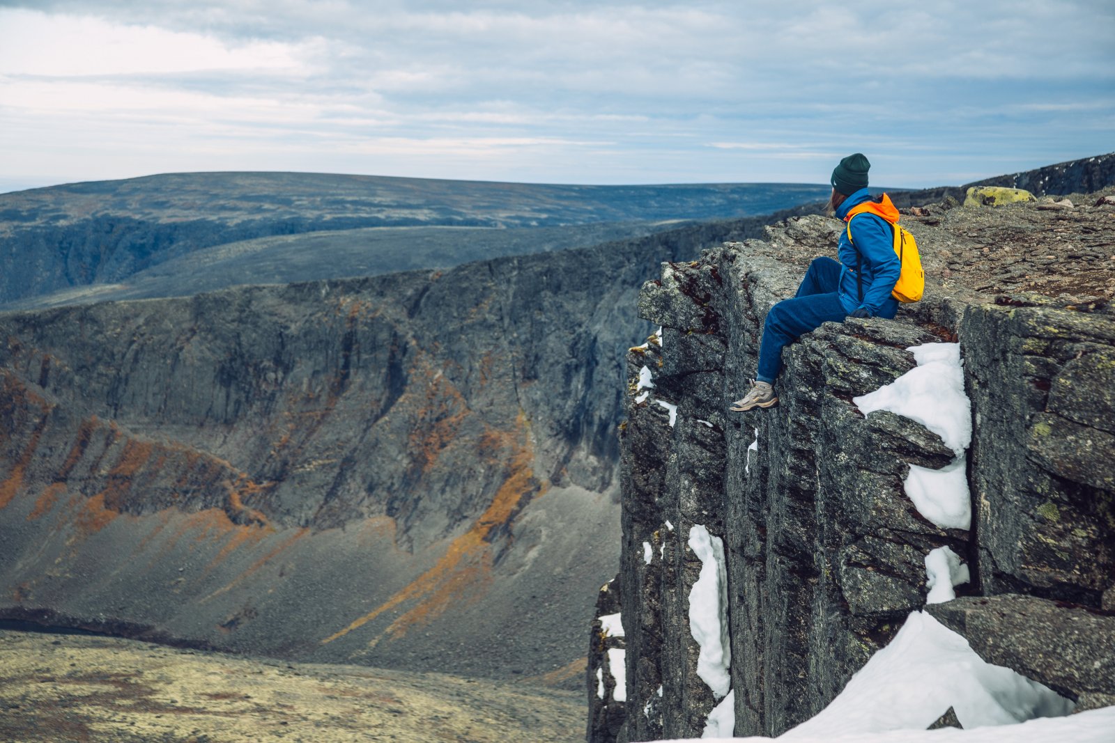
[[864, 416], [889, 410], [941, 437], [956, 458], [939, 470], [911, 465], [903, 489], [918, 512], [935, 526], [970, 529], [966, 452], [972, 438], [971, 402], [964, 393], [960, 344], [925, 343], [906, 350], [913, 353], [915, 368], [852, 402]]

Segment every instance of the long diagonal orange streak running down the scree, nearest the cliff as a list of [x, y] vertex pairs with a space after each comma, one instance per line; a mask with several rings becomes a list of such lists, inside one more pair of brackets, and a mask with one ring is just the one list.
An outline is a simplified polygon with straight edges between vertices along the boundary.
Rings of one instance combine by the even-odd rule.
[[[516, 437], [517, 433], [517, 437]], [[534, 477], [532, 463], [533, 448], [525, 416], [520, 412], [515, 432], [505, 434], [508, 443], [517, 438], [522, 443], [513, 443], [513, 456], [507, 465], [508, 475], [496, 491], [492, 504], [472, 527], [453, 540], [446, 554], [434, 567], [398, 590], [387, 602], [321, 641], [331, 643], [368, 624], [385, 612], [404, 604], [416, 602], [407, 612], [397, 617], [376, 637], [375, 645], [385, 635], [401, 636], [408, 627], [429, 622], [444, 613], [456, 602], [479, 598], [481, 590], [491, 580], [493, 561], [492, 541], [510, 528], [512, 520], [542, 486]]]

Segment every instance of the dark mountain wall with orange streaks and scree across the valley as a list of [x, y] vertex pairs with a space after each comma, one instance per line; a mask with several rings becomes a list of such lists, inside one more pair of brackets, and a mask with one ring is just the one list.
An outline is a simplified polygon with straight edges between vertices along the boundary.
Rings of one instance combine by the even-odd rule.
[[0, 615], [580, 673], [637, 287], [723, 234], [0, 315]]

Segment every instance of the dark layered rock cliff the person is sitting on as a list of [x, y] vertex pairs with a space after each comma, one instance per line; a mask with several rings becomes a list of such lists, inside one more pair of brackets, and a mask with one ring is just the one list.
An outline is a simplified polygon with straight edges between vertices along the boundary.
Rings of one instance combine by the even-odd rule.
[[[737, 735], [777, 735], [822, 710], [922, 608], [924, 558], [937, 547], [970, 566], [960, 594], [1017, 594], [1022, 606], [1055, 599], [1080, 617], [1112, 608], [1115, 260], [1097, 258], [1095, 276], [1057, 266], [1111, 245], [1115, 211], [1090, 206], [1095, 197], [1075, 202], [1088, 206], [953, 202], [904, 217], [922, 251], [925, 299], [893, 321], [830, 323], [788, 346], [769, 410], [727, 408], [755, 372], [767, 311], [793, 295], [813, 256], [835, 250], [840, 223], [794, 218], [765, 241], [665, 264], [643, 287], [640, 315], [662, 331], [628, 359], [618, 577], [628, 701], [614, 740], [700, 736], [724, 703], [690, 616], [705, 567], [691, 545], [700, 527], [724, 544], [731, 652], [721, 661]], [[1048, 261], [1040, 274], [1028, 264], [1031, 276], [1018, 263], [1035, 243]], [[1038, 280], [1076, 295], [975, 291]], [[970, 530], [935, 526], [903, 486], [911, 466], [939, 469], [956, 449], [921, 423], [864, 416], [854, 402], [915, 365], [908, 348], [944, 342], [959, 343], [972, 410]], [[1092, 659], [1104, 671], [1077, 686], [1055, 662], [1041, 669], [1018, 659], [1025, 652], [985, 657], [1089, 706], [1115, 691], [1115, 653], [1109, 642], [1088, 647], [1061, 658], [1099, 654]]]

